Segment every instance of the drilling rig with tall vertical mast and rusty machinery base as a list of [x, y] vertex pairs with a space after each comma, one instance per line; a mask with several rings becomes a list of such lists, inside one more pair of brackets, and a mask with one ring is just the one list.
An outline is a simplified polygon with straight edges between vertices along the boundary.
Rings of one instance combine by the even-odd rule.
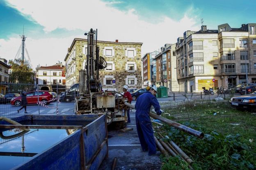
[[80, 95], [76, 97], [76, 113], [105, 115], [107, 125], [114, 124], [121, 129], [127, 122], [127, 106], [122, 101], [126, 98], [116, 91], [102, 91], [99, 71], [106, 68], [107, 62], [99, 56], [97, 33], [97, 29], [85, 33], [88, 51], [85, 68], [79, 71]]

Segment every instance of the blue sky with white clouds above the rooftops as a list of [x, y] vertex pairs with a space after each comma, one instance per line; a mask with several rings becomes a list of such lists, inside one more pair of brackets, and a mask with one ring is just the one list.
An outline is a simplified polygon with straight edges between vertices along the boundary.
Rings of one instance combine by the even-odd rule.
[[33, 68], [64, 63], [73, 39], [90, 28], [98, 40], [143, 43], [143, 57], [200, 30], [201, 18], [208, 29], [256, 23], [255, 7], [255, 0], [0, 0], [0, 58], [15, 58], [23, 26]]

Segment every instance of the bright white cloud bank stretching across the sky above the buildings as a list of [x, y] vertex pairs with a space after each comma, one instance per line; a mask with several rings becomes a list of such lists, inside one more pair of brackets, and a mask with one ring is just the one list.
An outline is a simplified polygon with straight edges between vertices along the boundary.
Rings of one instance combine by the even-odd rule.
[[[100, 0], [8, 0], [7, 3], [42, 25], [45, 32], [57, 28], [81, 29], [87, 32], [90, 28], [98, 28], [98, 40], [142, 42], [142, 56], [146, 52], [158, 50], [165, 43], [176, 43], [177, 37], [183, 36], [186, 30], [199, 30], [199, 26], [194, 26], [196, 18], [187, 15], [179, 21], [167, 16], [162, 19], [163, 16], [159, 16], [161, 22], [149, 23], [140, 20], [134, 9], [123, 12]], [[67, 48], [76, 37], [85, 38], [83, 35], [51, 39], [28, 37], [26, 45], [33, 66], [38, 63], [50, 65], [57, 60], [63, 61]], [[18, 36], [0, 40], [0, 54], [14, 58], [20, 43]]]

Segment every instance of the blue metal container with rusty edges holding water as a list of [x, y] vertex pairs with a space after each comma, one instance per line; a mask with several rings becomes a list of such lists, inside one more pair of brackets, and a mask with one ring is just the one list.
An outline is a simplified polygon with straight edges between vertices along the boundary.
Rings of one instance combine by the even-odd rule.
[[[49, 122], [55, 126], [81, 126], [85, 122], [85, 126], [81, 127], [81, 129], [78, 129], [47, 150], [34, 155], [22, 165], [16, 166], [13, 168], [15, 170], [97, 170], [107, 156], [107, 124], [105, 116], [98, 118], [97, 115], [25, 115], [12, 120], [30, 122], [31, 126], [39, 125], [40, 122], [44, 122], [42, 126], [49, 125]], [[2, 120], [0, 125], [10, 124]], [[2, 133], [2, 131], [6, 130], [1, 128], [0, 132]]]

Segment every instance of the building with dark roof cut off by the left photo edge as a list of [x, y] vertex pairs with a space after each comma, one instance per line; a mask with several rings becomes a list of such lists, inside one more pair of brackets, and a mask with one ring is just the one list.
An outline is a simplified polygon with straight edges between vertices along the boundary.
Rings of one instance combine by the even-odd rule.
[[6, 59], [0, 58], [0, 93], [5, 95], [7, 88], [8, 88], [8, 82], [9, 82], [9, 75], [8, 70], [11, 68], [7, 64]]

